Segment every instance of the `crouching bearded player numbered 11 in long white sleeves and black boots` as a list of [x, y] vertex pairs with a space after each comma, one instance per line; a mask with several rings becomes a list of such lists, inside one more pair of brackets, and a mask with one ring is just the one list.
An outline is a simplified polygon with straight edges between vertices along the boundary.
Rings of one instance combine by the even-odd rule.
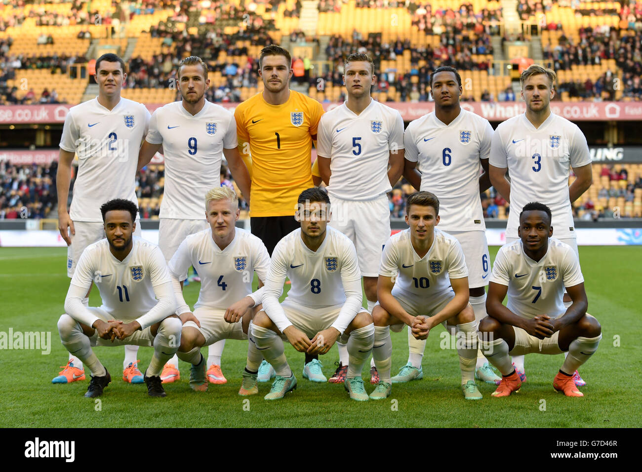
[[[166, 396], [160, 383], [163, 365], [180, 344], [180, 320], [174, 315], [176, 299], [167, 263], [160, 249], [132, 238], [136, 205], [118, 198], [100, 207], [107, 238], [83, 250], [67, 298], [67, 313], [58, 320], [60, 340], [91, 370], [85, 397], [103, 394], [112, 380], [91, 347], [95, 345], [144, 345], [154, 348], [144, 374], [147, 392]], [[86, 307], [82, 300], [95, 282], [103, 304]]]

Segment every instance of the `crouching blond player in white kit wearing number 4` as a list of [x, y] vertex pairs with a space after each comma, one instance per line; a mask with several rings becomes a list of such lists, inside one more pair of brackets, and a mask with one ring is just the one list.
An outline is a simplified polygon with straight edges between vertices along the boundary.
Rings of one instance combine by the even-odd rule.
[[[235, 227], [239, 219], [238, 198], [228, 187], [211, 189], [205, 195], [205, 218], [209, 228], [185, 238], [169, 261], [169, 272], [178, 300], [183, 329], [178, 358], [191, 363], [189, 386], [207, 390], [207, 373], [200, 348], [221, 339], [246, 340], [248, 326], [260, 309], [263, 281], [270, 256], [263, 241]], [[198, 268], [201, 288], [194, 312], [189, 310], [179, 282], [193, 265]], [[254, 272], [259, 289], [252, 293]], [[248, 360], [239, 395], [257, 394], [256, 378], [263, 355], [249, 343]]]

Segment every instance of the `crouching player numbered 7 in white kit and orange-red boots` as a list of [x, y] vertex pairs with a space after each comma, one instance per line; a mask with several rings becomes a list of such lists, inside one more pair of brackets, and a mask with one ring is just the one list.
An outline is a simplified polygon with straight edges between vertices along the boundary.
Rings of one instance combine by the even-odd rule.
[[[502, 374], [493, 396], [519, 392], [521, 381], [510, 356], [568, 351], [553, 388], [582, 397], [573, 372], [589, 360], [602, 339], [598, 320], [587, 315], [584, 277], [575, 251], [551, 238], [551, 210], [526, 204], [519, 214], [519, 240], [499, 248], [490, 276], [486, 310], [479, 337], [485, 356]], [[564, 309], [564, 287], [573, 300]], [[502, 302], [508, 292], [508, 302]]]

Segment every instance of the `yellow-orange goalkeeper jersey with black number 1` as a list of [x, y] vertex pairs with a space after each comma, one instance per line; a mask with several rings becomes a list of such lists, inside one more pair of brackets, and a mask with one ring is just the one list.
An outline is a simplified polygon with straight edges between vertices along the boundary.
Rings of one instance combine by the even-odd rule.
[[299, 194], [313, 186], [312, 143], [321, 104], [297, 91], [282, 105], [259, 92], [234, 111], [239, 153], [250, 170], [250, 216], [294, 215]]

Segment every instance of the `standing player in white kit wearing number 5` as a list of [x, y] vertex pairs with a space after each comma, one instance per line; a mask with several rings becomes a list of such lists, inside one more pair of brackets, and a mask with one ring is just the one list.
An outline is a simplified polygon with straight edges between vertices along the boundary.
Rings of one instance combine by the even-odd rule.
[[[368, 312], [377, 302], [381, 248], [390, 238], [387, 193], [403, 171], [403, 118], [373, 100], [374, 63], [367, 54], [345, 59], [347, 100], [322, 116], [318, 129], [319, 172], [333, 207], [331, 226], [354, 243], [363, 275]], [[339, 367], [330, 381], [345, 380], [348, 353], [337, 343]], [[373, 363], [374, 369], [374, 363]], [[376, 370], [371, 381], [377, 383]]]

